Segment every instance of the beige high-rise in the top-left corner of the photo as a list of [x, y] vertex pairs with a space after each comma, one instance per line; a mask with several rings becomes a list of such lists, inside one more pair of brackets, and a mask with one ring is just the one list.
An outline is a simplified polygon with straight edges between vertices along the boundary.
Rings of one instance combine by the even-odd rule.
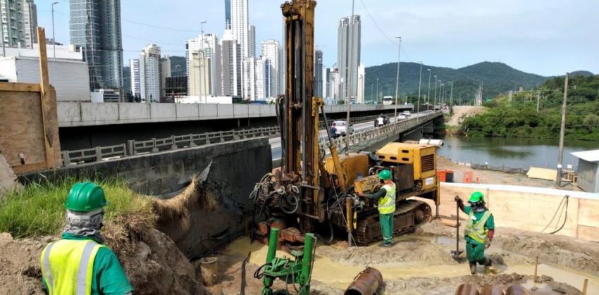
[[0, 40], [5, 47], [33, 48], [37, 42], [37, 8], [33, 0], [0, 0]]

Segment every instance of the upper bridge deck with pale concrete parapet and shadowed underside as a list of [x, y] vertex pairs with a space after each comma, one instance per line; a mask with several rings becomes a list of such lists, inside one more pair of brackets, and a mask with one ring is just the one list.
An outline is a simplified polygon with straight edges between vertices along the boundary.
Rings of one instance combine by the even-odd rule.
[[[397, 111], [412, 111], [412, 104]], [[214, 103], [58, 102], [63, 149], [110, 146], [130, 139], [240, 130], [276, 125], [274, 105]], [[325, 106], [328, 118], [345, 118], [345, 105]], [[394, 106], [352, 105], [352, 118], [393, 113]]]

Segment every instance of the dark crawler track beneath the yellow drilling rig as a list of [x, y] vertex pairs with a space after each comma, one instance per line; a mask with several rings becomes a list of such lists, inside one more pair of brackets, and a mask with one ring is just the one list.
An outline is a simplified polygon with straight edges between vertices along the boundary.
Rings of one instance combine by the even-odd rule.
[[[417, 200], [401, 201], [397, 203], [397, 208], [393, 216], [393, 235], [414, 232], [416, 227], [430, 221], [432, 217], [433, 213], [428, 203]], [[354, 230], [354, 237], [356, 243], [360, 245], [383, 239], [378, 214], [359, 218]]]

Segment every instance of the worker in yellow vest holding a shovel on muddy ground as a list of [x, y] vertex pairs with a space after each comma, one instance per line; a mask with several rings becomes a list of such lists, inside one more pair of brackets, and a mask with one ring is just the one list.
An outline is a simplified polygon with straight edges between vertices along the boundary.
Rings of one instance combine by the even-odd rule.
[[466, 239], [466, 256], [470, 263], [470, 272], [476, 273], [476, 263], [485, 265], [485, 272], [496, 272], [493, 269], [490, 258], [485, 257], [486, 244], [493, 241], [495, 234], [495, 222], [493, 214], [485, 206], [485, 198], [481, 192], [473, 192], [470, 195], [468, 203], [470, 206], [464, 207], [464, 201], [455, 196], [457, 206], [468, 214], [468, 222], [464, 228], [464, 238]]

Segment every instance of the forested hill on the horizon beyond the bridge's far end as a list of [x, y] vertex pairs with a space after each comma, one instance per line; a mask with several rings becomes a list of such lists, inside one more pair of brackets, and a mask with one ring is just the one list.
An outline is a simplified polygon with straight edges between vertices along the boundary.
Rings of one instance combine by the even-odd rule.
[[[454, 82], [453, 95], [454, 99], [474, 100], [474, 93], [478, 89], [478, 85], [483, 83], [483, 96], [486, 99], [491, 99], [494, 96], [508, 90], [515, 90], [518, 87], [530, 89], [538, 84], [543, 83], [548, 77], [524, 73], [516, 70], [505, 63], [482, 62], [474, 65], [469, 65], [464, 68], [442, 68], [431, 65], [422, 65], [422, 86], [421, 95], [424, 97], [428, 92], [428, 72], [431, 69], [431, 97], [434, 97], [435, 78], [442, 80], [445, 84], [448, 98], [450, 94], [450, 84]], [[400, 93], [409, 96], [418, 95], [419, 82], [419, 63], [404, 63], [400, 64]], [[395, 96], [395, 76], [397, 75], [397, 63], [385, 63], [384, 65], [376, 65], [366, 68], [365, 81], [365, 96], [366, 101], [375, 96], [376, 79], [378, 78], [379, 92], [383, 92], [383, 96]]]

